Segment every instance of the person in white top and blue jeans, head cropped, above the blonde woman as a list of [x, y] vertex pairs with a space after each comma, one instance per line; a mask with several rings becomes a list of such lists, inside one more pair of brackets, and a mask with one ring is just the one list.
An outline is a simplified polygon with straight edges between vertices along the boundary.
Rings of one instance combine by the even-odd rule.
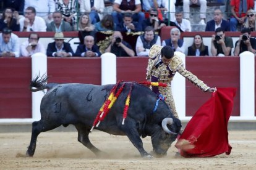
[[81, 0], [80, 13], [86, 13], [90, 16], [91, 23], [99, 22], [103, 18], [105, 5], [104, 0]]

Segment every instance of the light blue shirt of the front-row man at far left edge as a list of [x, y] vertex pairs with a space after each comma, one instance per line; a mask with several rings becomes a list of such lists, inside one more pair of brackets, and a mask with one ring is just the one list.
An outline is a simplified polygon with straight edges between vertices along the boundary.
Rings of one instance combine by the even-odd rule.
[[19, 44], [19, 37], [14, 33], [11, 34], [11, 38], [9, 42], [4, 42], [2, 39], [2, 33], [0, 34], [0, 53], [2, 52], [13, 52], [15, 57], [20, 56], [20, 44]]

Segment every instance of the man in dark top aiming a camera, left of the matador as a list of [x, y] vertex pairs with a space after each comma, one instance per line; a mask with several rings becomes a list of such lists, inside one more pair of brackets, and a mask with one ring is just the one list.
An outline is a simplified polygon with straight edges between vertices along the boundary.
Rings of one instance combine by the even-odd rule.
[[105, 52], [112, 52], [117, 57], [133, 57], [135, 55], [134, 51], [132, 50], [132, 46], [123, 40], [120, 31], [114, 31], [111, 37], [111, 43]]

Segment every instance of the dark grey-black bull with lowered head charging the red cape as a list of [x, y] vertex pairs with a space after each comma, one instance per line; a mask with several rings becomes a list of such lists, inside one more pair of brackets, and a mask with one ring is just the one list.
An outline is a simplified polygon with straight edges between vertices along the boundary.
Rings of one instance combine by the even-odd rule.
[[[153, 153], [158, 156], [166, 155], [181, 129], [181, 121], [173, 117], [168, 105], [162, 100], [153, 112], [157, 100], [156, 94], [148, 87], [134, 83], [127, 118], [122, 124], [122, 113], [130, 84], [126, 83], [108, 115], [95, 129], [109, 134], [127, 136], [139, 150], [140, 155], [148, 158], [151, 158], [151, 155], [144, 150], [140, 136], [151, 136]], [[88, 135], [98, 111], [108, 99], [113, 86], [46, 84], [46, 79], [34, 79], [30, 84], [31, 91], [43, 89], [49, 89], [49, 91], [41, 100], [40, 121], [33, 122], [27, 156], [34, 155], [36, 139], [40, 132], [49, 131], [61, 125], [66, 127], [69, 124], [73, 124], [77, 129], [79, 142], [95, 155], [100, 155], [100, 150], [91, 144]]]

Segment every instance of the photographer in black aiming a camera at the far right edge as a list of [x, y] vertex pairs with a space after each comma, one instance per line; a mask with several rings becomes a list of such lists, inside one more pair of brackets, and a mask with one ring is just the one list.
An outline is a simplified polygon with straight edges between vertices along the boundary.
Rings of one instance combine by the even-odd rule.
[[256, 40], [250, 38], [250, 28], [243, 28], [239, 40], [236, 41], [234, 55], [238, 56], [244, 51], [256, 52]]

